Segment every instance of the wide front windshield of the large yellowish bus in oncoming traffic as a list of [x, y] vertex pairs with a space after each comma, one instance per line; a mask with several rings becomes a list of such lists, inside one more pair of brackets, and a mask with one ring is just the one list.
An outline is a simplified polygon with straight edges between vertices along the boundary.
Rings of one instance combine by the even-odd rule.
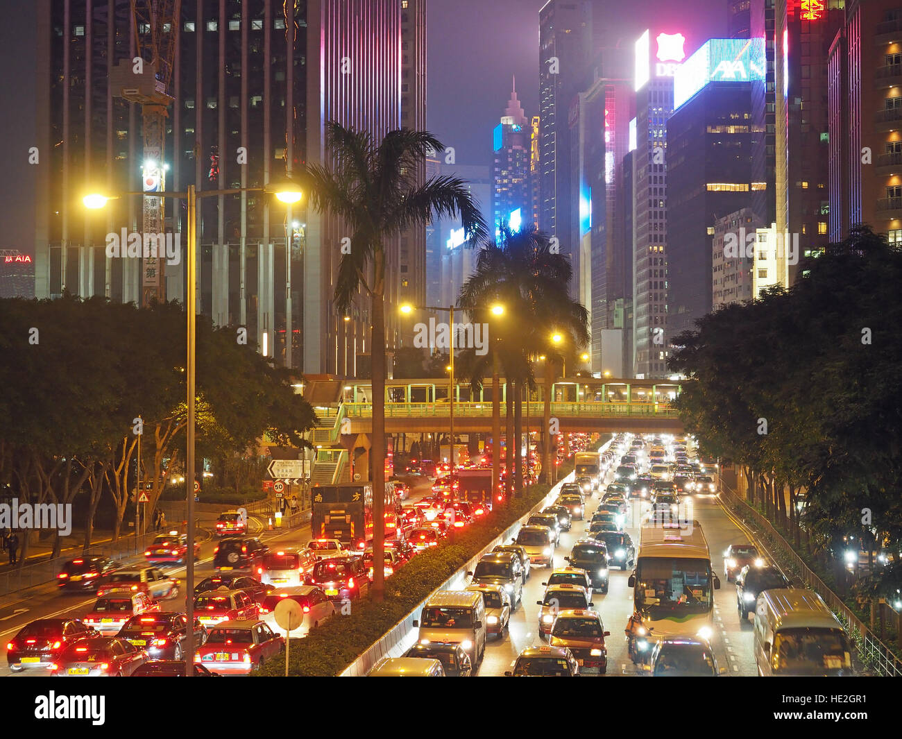
[[652, 620], [706, 614], [712, 603], [711, 562], [707, 559], [640, 558], [636, 607]]

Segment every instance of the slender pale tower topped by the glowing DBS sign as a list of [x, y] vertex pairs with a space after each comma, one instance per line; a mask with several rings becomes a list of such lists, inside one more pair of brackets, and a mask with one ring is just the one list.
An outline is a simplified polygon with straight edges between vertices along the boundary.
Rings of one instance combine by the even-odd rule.
[[632, 365], [638, 378], [667, 374], [667, 118], [685, 43], [682, 33], [646, 30], [634, 45]]

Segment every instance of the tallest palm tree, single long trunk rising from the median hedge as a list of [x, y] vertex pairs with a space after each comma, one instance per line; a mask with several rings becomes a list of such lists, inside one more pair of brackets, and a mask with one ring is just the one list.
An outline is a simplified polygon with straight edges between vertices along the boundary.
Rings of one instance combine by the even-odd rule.
[[464, 180], [433, 177], [420, 183], [428, 154], [444, 145], [426, 131], [401, 128], [377, 142], [364, 131], [330, 122], [327, 166], [310, 165], [301, 175], [310, 205], [344, 221], [351, 238], [349, 254], [338, 264], [335, 300], [346, 313], [361, 288], [372, 304], [370, 333], [373, 375], [373, 597], [382, 600], [385, 552], [385, 270], [390, 239], [434, 216], [460, 215], [465, 233], [482, 238], [485, 221]]

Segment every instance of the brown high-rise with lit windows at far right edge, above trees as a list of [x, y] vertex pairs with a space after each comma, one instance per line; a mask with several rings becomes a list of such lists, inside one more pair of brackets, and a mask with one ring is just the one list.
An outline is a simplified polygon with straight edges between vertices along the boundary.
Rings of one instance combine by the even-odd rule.
[[[814, 22], [813, 22], [814, 23]], [[869, 224], [902, 243], [902, 2], [851, 0], [830, 48], [831, 241]]]

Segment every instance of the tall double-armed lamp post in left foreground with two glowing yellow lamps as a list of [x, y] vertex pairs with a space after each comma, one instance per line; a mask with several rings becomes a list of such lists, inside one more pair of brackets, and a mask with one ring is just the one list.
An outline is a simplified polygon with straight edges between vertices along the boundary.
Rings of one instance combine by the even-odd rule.
[[[130, 196], [140, 196], [142, 198], [172, 198], [186, 200], [188, 205], [188, 238], [186, 246], [188, 249], [188, 261], [186, 264], [188, 273], [188, 287], [185, 291], [185, 312], [188, 314], [188, 358], [186, 362], [186, 383], [187, 389], [187, 450], [185, 454], [185, 482], [186, 482], [186, 506], [188, 519], [187, 547], [189, 555], [185, 558], [185, 614], [187, 616], [188, 625], [185, 629], [185, 643], [182, 648], [182, 655], [185, 657], [185, 677], [194, 675], [194, 557], [191, 552], [194, 551], [194, 470], [195, 470], [195, 422], [196, 422], [196, 406], [195, 406], [195, 369], [197, 359], [197, 272], [198, 272], [198, 254], [197, 254], [197, 203], [199, 198], [213, 198], [220, 195], [238, 195], [243, 192], [267, 192], [276, 196], [276, 199], [283, 203], [297, 203], [301, 198], [301, 192], [297, 185], [293, 183], [280, 185], [267, 185], [262, 188], [231, 188], [231, 189], [210, 189], [204, 190], [199, 195], [194, 185], [189, 185], [186, 192], [144, 192], [144, 191], [127, 191], [120, 192], [115, 195], [103, 195], [98, 193], [88, 194], [82, 199], [85, 208], [96, 210], [104, 208], [107, 201]], [[287, 245], [290, 249], [290, 244]]]

